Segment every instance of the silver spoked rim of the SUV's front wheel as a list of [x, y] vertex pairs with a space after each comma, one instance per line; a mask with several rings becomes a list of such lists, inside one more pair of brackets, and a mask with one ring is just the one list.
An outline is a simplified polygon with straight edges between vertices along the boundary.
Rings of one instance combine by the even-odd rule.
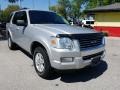
[[45, 69], [44, 58], [41, 53], [35, 55], [35, 65], [39, 72], [43, 72]]

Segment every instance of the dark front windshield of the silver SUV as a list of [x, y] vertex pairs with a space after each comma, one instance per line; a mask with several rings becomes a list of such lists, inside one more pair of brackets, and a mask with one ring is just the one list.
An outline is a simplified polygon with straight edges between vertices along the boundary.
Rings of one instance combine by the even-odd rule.
[[47, 11], [29, 11], [31, 24], [68, 24], [60, 15]]

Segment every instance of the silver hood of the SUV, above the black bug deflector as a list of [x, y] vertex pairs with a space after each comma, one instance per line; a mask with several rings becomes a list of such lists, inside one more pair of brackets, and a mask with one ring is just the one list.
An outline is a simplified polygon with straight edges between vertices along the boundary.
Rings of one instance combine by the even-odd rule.
[[44, 29], [46, 32], [57, 34], [84, 34], [84, 33], [96, 33], [95, 30], [89, 28], [83, 28], [78, 26], [70, 26], [67, 24], [35, 24], [37, 28]]

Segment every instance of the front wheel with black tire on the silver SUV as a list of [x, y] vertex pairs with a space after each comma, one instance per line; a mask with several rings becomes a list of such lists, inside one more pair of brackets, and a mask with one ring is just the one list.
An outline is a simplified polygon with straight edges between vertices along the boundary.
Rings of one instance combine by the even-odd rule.
[[46, 50], [37, 47], [34, 50], [33, 62], [34, 68], [40, 77], [47, 79], [51, 76], [52, 68]]

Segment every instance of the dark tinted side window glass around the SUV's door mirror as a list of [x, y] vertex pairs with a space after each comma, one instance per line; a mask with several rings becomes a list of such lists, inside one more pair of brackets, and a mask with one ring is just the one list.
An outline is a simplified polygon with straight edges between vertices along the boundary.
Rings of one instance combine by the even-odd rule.
[[24, 22], [27, 24], [27, 15], [25, 11], [21, 11], [21, 12], [16, 12], [14, 17], [13, 17], [13, 24], [17, 24], [17, 20], [24, 20]]

